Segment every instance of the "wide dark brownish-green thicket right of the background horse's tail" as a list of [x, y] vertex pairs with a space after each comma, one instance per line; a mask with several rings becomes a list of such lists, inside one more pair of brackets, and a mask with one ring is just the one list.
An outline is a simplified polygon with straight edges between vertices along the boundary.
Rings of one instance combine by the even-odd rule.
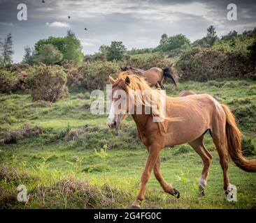
[[205, 82], [218, 78], [251, 77], [255, 62], [244, 48], [194, 47], [180, 55], [176, 68], [180, 80]]

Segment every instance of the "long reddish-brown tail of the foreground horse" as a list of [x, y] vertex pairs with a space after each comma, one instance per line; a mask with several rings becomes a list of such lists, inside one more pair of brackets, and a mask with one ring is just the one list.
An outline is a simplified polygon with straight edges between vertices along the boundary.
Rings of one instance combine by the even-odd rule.
[[226, 135], [229, 155], [237, 167], [247, 172], [256, 172], [256, 160], [247, 160], [241, 151], [241, 132], [236, 125], [234, 114], [227, 105], [221, 105], [226, 114]]

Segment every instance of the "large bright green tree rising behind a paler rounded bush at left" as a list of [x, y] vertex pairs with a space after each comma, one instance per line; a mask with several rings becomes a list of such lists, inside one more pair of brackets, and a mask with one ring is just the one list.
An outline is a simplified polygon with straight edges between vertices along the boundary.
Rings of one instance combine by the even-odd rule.
[[[80, 40], [76, 38], [75, 33], [71, 30], [67, 31], [65, 37], [52, 37], [46, 40], [38, 40], [35, 44], [36, 54], [41, 50], [41, 47], [46, 44], [54, 45], [59, 52], [62, 53], [62, 61], [74, 61], [77, 65], [83, 62], [83, 52]], [[62, 62], [61, 61], [61, 62]]]

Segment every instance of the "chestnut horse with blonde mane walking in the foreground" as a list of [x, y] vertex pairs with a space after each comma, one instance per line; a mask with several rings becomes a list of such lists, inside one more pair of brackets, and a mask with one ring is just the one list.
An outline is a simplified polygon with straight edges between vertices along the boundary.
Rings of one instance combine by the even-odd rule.
[[[234, 115], [227, 105], [221, 105], [211, 95], [206, 93], [194, 94], [187, 92], [185, 97], [165, 98], [166, 118], [162, 122], [155, 122], [155, 116], [160, 113], [137, 114], [137, 105], [141, 104], [142, 111], [146, 108], [145, 100], [136, 96], [134, 103], [125, 100], [125, 113], [118, 113], [115, 102], [121, 100], [117, 90], [123, 91], [126, 98], [131, 97], [134, 90], [145, 91], [151, 96], [161, 90], [152, 90], [144, 78], [131, 75], [130, 72], [121, 72], [117, 79], [109, 77], [112, 88], [111, 112], [107, 124], [110, 128], [118, 128], [125, 114], [130, 113], [137, 127], [137, 136], [148, 148], [148, 160], [141, 176], [141, 188], [131, 208], [140, 208], [141, 201], [145, 197], [145, 186], [150, 178], [152, 169], [155, 177], [162, 186], [164, 192], [180, 197], [180, 192], [166, 183], [160, 171], [159, 153], [162, 148], [188, 143], [196, 151], [204, 162], [204, 167], [199, 178], [199, 190], [204, 192], [208, 169], [212, 156], [204, 146], [204, 134], [209, 131], [220, 156], [220, 165], [223, 171], [224, 190], [231, 185], [227, 176], [228, 160], [232, 158], [236, 166], [244, 171], [255, 172], [256, 160], [246, 160], [241, 153], [241, 132], [236, 125]], [[160, 105], [159, 105], [160, 107]], [[131, 109], [134, 109], [131, 113]], [[170, 118], [171, 117], [171, 118]], [[178, 120], [177, 120], [178, 118]]]

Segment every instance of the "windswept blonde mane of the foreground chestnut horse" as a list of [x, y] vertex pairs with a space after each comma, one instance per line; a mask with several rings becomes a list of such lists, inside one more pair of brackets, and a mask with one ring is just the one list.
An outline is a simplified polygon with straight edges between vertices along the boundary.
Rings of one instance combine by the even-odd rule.
[[[125, 79], [129, 77], [129, 84], [125, 83]], [[166, 134], [166, 127], [164, 125], [164, 121], [174, 121], [175, 118], [166, 117], [164, 114], [165, 107], [162, 107], [162, 103], [160, 100], [160, 96], [162, 94], [161, 89], [152, 90], [148, 85], [148, 82], [145, 80], [144, 77], [140, 77], [138, 75], [134, 75], [129, 70], [121, 72], [118, 75], [118, 79], [116, 79], [115, 83], [113, 84], [113, 88], [115, 86], [120, 86], [124, 91], [130, 93], [129, 90], [133, 91], [143, 91], [142, 94], [136, 94], [136, 98], [134, 100], [134, 106], [136, 105], [144, 105], [145, 107], [151, 107], [151, 115], [153, 117], [159, 118], [162, 121], [157, 121], [159, 132], [161, 134]], [[165, 100], [165, 98], [164, 98]], [[156, 107], [152, 107], [152, 105], [157, 105]]]

